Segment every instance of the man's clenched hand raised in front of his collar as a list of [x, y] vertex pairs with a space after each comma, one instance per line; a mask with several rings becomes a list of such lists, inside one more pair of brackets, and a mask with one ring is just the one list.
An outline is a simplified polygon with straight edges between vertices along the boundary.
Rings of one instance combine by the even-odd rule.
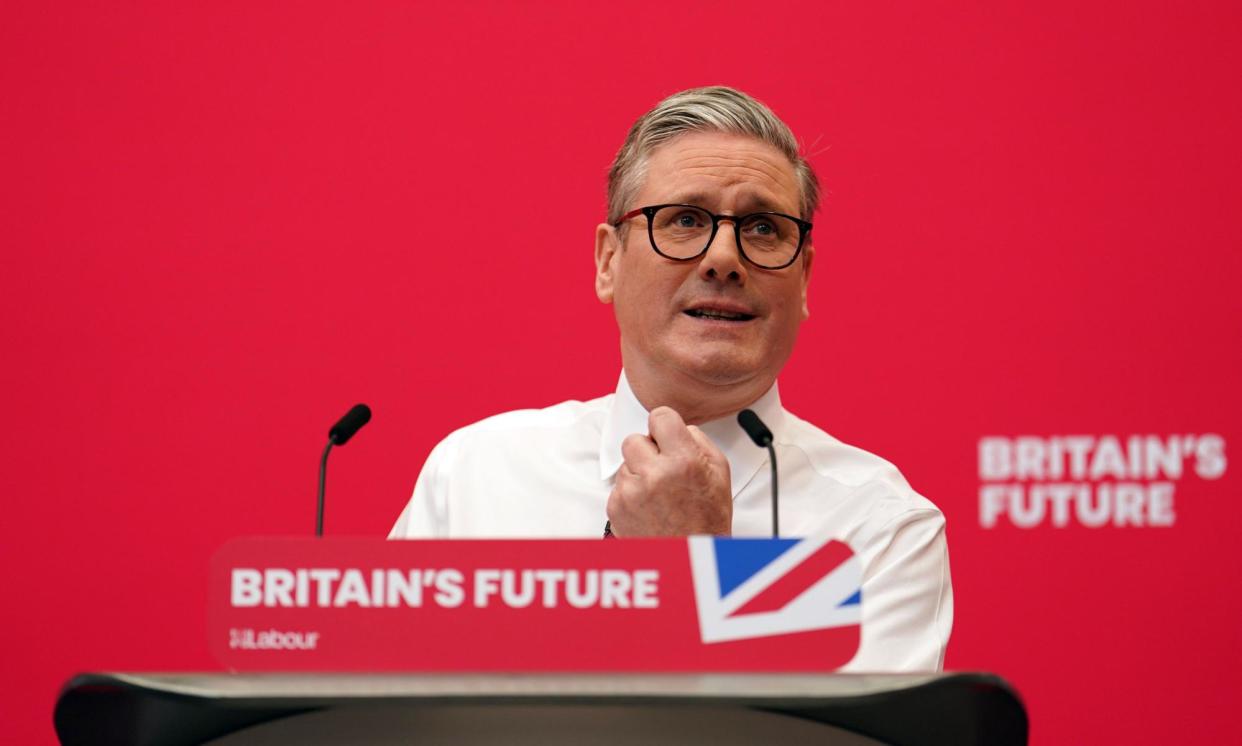
[[647, 420], [651, 436], [621, 443], [625, 462], [609, 495], [617, 536], [728, 536], [733, 529], [729, 462], [703, 431], [668, 407]]

